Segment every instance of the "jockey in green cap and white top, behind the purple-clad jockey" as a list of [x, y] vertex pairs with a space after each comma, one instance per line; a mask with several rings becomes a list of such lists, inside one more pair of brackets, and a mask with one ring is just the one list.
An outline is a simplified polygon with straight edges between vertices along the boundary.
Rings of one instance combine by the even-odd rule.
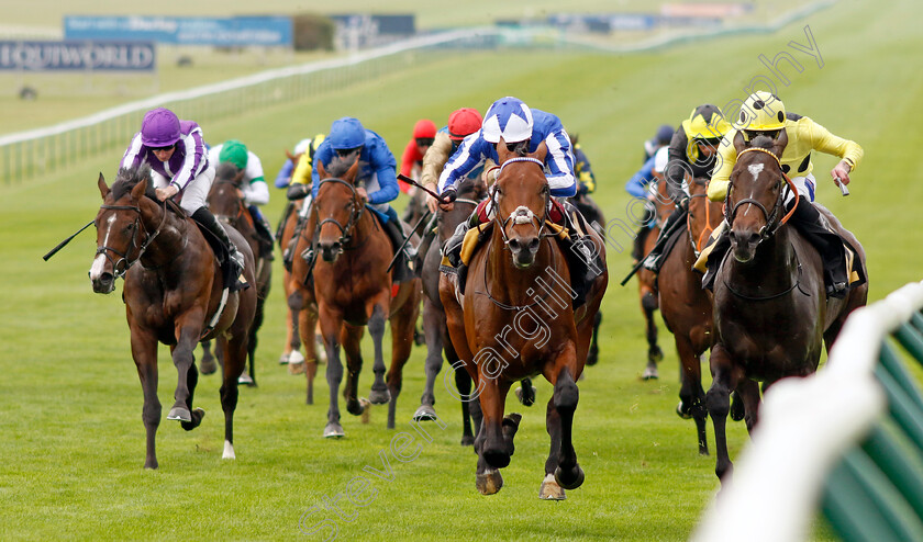
[[209, 162], [214, 165], [230, 162], [237, 168], [238, 173], [243, 171], [241, 192], [243, 192], [244, 204], [253, 218], [254, 229], [259, 239], [259, 256], [271, 260], [271, 226], [257, 207], [257, 205], [269, 203], [269, 185], [263, 177], [263, 162], [259, 161], [259, 157], [237, 139], [229, 139], [209, 149]]

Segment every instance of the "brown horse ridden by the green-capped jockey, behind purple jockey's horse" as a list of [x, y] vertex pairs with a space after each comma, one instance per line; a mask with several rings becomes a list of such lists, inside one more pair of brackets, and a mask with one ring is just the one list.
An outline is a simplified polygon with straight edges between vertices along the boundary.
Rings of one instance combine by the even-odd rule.
[[[214, 173], [214, 182], [212, 182], [212, 188], [209, 192], [208, 204], [215, 218], [230, 225], [243, 235], [251, 247], [251, 251], [254, 255], [258, 255], [259, 239], [257, 238], [256, 228], [253, 225], [253, 217], [251, 217], [240, 192], [242, 181], [243, 170], [238, 172], [237, 168], [231, 162], [219, 163]], [[256, 385], [254, 366], [257, 345], [256, 331], [263, 325], [264, 307], [266, 297], [269, 295], [271, 281], [273, 262], [267, 258], [258, 258], [256, 260], [256, 315], [254, 316], [249, 340], [247, 341], [249, 373], [241, 375], [241, 384]], [[202, 374], [211, 374], [216, 369], [214, 358], [209, 349], [210, 342], [202, 341], [202, 362], [200, 364]]]

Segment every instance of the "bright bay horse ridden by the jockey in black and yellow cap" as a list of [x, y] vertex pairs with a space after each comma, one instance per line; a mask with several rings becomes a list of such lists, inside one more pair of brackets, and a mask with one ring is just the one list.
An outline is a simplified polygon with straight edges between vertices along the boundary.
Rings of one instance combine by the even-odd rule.
[[664, 255], [664, 263], [657, 278], [659, 286], [660, 314], [664, 324], [674, 335], [679, 366], [682, 372], [682, 387], [677, 414], [696, 420], [699, 436], [699, 453], [708, 455], [705, 437], [705, 391], [702, 388], [702, 362], [700, 357], [712, 343], [711, 292], [702, 289], [702, 274], [692, 269], [709, 235], [724, 218], [721, 202], [710, 202], [708, 179], [689, 182], [689, 210], [686, 229], [672, 249]]

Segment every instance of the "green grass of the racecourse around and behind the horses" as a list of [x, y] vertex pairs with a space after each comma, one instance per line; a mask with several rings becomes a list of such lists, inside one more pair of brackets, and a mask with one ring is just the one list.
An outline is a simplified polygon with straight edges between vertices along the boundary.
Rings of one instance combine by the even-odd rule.
[[[923, 144], [923, 112], [915, 97], [923, 76], [914, 66], [923, 38], [912, 26], [912, 1], [875, 8], [843, 2], [807, 21], [821, 48], [822, 69], [805, 61], [780, 89], [789, 109], [834, 133], [859, 142], [866, 157], [854, 176], [853, 195], [838, 196], [824, 172], [834, 160], [815, 157], [819, 200], [863, 241], [869, 259], [871, 298], [921, 279], [923, 216], [915, 151]], [[352, 114], [382, 134], [399, 151], [413, 123], [443, 123], [463, 105], [481, 111], [514, 94], [555, 112], [579, 132], [599, 178], [598, 201], [608, 217], [624, 213], [622, 184], [638, 167], [641, 142], [663, 122], [677, 123], [697, 104], [727, 103], [790, 39], [803, 43], [798, 23], [775, 35], [737, 37], [649, 55], [602, 56], [496, 52], [446, 55], [425, 68], [394, 72], [337, 94], [286, 106], [241, 112], [203, 126], [209, 140], [237, 137], [274, 176], [281, 149], [331, 121]], [[127, 142], [126, 142], [127, 143]], [[22, 185], [3, 187], [0, 217], [0, 539], [278, 540], [304, 539], [299, 518], [325, 497], [334, 498], [363, 467], [381, 468], [394, 431], [385, 409], [363, 426], [344, 414], [347, 438], [321, 438], [327, 392], [318, 382], [316, 404], [303, 404], [304, 381], [276, 364], [283, 340], [283, 300], [277, 274], [260, 334], [257, 389], [243, 389], [235, 417], [237, 460], [222, 461], [223, 427], [218, 380], [200, 380], [196, 402], [209, 414], [187, 433], [164, 420], [157, 436], [160, 468], [144, 462], [142, 396], [129, 352], [120, 296], [92, 294], [86, 272], [94, 250], [91, 233], [49, 262], [41, 256], [89, 221], [100, 203], [96, 178], [114, 172], [120, 151], [88, 160]], [[282, 195], [274, 191], [274, 221]], [[403, 203], [399, 202], [398, 207]], [[627, 239], [625, 240], [627, 242]], [[610, 250], [612, 284], [604, 301], [599, 365], [587, 371], [575, 417], [575, 445], [587, 481], [564, 503], [537, 497], [547, 454], [544, 402], [515, 405], [524, 413], [516, 453], [503, 470], [500, 494], [474, 487], [475, 455], [458, 445], [458, 404], [437, 385], [436, 408], [445, 430], [425, 426], [433, 442], [419, 441], [407, 463], [390, 455], [393, 479], [366, 474], [378, 493], [368, 506], [345, 505], [352, 521], [336, 520], [341, 540], [683, 540], [694, 528], [718, 482], [714, 459], [696, 452], [693, 426], [674, 414], [677, 362], [663, 330], [667, 359], [659, 382], [641, 382], [645, 341], [635, 287], [619, 287], [627, 253]], [[371, 382], [371, 352], [359, 384]], [[423, 387], [424, 350], [404, 370], [398, 431]], [[171, 404], [175, 371], [160, 352], [160, 391]], [[323, 371], [321, 372], [323, 374]], [[710, 436], [713, 449], [713, 438]], [[732, 424], [730, 447], [746, 442]], [[370, 493], [364, 496], [368, 497]], [[325, 516], [335, 519], [335, 516]], [[316, 517], [319, 520], [320, 517]], [[311, 524], [311, 523], [309, 523]], [[766, 528], [766, 527], [755, 527]], [[827, 540], [821, 526], [813, 539]], [[321, 537], [314, 537], [321, 539]]]

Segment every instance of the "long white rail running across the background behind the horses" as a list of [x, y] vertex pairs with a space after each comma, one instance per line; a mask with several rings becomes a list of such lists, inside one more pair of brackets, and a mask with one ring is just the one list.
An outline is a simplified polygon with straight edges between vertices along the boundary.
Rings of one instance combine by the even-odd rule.
[[422, 35], [344, 58], [273, 69], [187, 91], [158, 94], [54, 126], [0, 136], [0, 178], [3, 185], [10, 185], [53, 173], [60, 168], [94, 158], [100, 153], [122, 148], [137, 131], [144, 113], [157, 106], [169, 106], [182, 118], [210, 122], [240, 114], [241, 111], [254, 111], [320, 92], [341, 90], [400, 68], [434, 61], [440, 56], [426, 53], [440, 49], [510, 46], [569, 47], [610, 54], [641, 53], [731, 34], [776, 32], [833, 3], [835, 0], [819, 0], [761, 25], [676, 32], [627, 45], [601, 45], [542, 26], [485, 26]]

